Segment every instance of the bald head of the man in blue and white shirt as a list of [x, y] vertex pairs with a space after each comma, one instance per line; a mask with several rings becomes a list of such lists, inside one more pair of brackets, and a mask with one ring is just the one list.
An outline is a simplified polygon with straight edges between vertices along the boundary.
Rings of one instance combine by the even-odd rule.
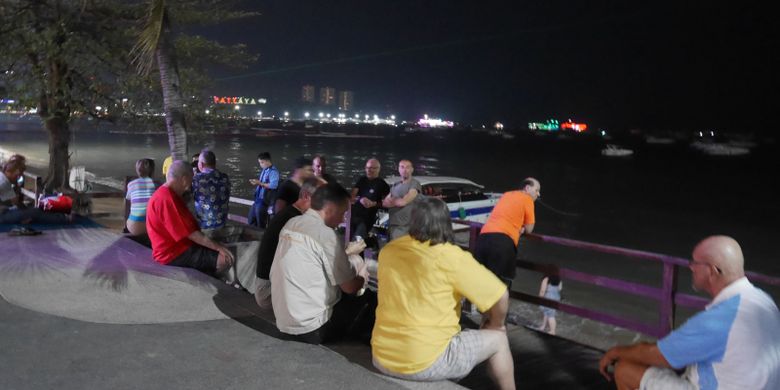
[[727, 283], [745, 276], [745, 259], [739, 243], [728, 236], [710, 236], [693, 249], [693, 258], [720, 269]]

